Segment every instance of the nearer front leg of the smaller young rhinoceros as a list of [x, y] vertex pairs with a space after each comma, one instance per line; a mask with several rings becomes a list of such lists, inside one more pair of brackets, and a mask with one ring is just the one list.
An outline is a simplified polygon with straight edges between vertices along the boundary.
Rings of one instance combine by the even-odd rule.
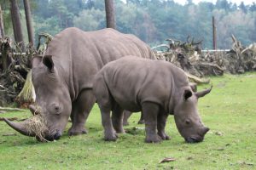
[[146, 139], [147, 143], [158, 143], [161, 141], [160, 136], [156, 133], [157, 116], [160, 111], [160, 106], [152, 102], [143, 103], [143, 116], [146, 126]]

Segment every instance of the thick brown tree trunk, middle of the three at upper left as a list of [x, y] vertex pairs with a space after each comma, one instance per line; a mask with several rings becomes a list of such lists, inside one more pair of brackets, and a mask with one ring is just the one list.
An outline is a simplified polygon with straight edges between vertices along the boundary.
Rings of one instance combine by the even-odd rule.
[[13, 27], [15, 32], [15, 42], [20, 44], [22, 51], [25, 51], [23, 34], [20, 22], [20, 10], [16, 0], [10, 0], [10, 10], [12, 14]]

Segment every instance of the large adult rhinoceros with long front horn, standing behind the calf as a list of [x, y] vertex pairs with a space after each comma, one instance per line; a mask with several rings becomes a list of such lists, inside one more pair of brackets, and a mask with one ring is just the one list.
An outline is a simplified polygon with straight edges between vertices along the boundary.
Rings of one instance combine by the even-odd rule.
[[[67, 28], [57, 34], [44, 57], [32, 59], [32, 82], [36, 103], [49, 127], [45, 139], [59, 139], [72, 119], [69, 135], [86, 133], [84, 123], [96, 99], [92, 81], [103, 65], [125, 55], [156, 59], [145, 42], [113, 29], [81, 31]], [[34, 106], [30, 109], [34, 111]], [[5, 121], [22, 134], [28, 133], [24, 124]]]

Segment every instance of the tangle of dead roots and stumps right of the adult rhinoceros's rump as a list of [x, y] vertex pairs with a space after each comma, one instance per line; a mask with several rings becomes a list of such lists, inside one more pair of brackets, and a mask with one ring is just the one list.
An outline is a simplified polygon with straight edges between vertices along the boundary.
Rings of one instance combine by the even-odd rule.
[[166, 48], [155, 51], [158, 59], [177, 65], [195, 77], [221, 76], [256, 70], [256, 44], [243, 47], [232, 35], [233, 46], [230, 50], [201, 50], [201, 41], [194, 42], [188, 37], [187, 42], [168, 39], [169, 44], [154, 48]]

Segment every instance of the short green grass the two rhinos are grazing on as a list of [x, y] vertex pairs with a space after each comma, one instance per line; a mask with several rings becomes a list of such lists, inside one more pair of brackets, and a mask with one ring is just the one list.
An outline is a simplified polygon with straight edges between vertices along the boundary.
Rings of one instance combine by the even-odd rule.
[[[86, 124], [88, 134], [69, 138], [66, 130], [60, 140], [45, 144], [0, 122], [0, 169], [256, 169], [256, 72], [212, 77], [212, 84], [212, 93], [199, 101], [202, 120], [211, 128], [200, 144], [184, 143], [172, 116], [166, 125], [169, 141], [145, 144], [144, 132], [138, 130], [136, 135], [119, 135], [117, 142], [104, 142], [95, 106]], [[139, 114], [132, 115], [125, 128], [143, 127], [138, 119]], [[159, 163], [165, 157], [175, 161]]]

